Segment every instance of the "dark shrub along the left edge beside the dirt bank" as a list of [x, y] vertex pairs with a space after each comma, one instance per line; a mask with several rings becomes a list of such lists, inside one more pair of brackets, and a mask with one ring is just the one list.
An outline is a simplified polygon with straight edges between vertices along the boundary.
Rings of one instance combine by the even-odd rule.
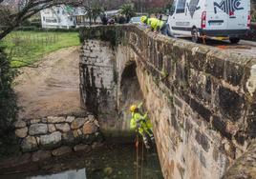
[[0, 157], [16, 149], [12, 125], [17, 115], [16, 96], [11, 87], [14, 75], [10, 59], [0, 48]]

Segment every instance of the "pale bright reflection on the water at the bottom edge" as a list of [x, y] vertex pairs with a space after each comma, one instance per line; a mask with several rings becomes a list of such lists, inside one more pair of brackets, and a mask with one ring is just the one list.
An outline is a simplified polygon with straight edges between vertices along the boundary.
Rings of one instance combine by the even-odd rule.
[[27, 179], [86, 179], [86, 171], [74, 169], [51, 175], [27, 177]]

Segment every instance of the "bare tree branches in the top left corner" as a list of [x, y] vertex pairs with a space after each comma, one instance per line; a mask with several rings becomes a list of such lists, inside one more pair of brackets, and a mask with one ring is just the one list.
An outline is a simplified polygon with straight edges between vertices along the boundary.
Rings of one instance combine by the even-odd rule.
[[[14, 0], [12, 0], [13, 2]], [[56, 5], [80, 6], [83, 0], [16, 0], [17, 9], [11, 9], [10, 0], [0, 0], [0, 40], [14, 30], [20, 23], [40, 10]]]

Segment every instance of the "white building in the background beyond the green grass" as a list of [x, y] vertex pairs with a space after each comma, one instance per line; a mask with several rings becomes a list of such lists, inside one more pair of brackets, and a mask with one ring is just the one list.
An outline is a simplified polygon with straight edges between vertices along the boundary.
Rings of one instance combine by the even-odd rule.
[[85, 15], [85, 10], [61, 5], [51, 9], [41, 10], [40, 14], [42, 28], [70, 29], [76, 27], [76, 16]]

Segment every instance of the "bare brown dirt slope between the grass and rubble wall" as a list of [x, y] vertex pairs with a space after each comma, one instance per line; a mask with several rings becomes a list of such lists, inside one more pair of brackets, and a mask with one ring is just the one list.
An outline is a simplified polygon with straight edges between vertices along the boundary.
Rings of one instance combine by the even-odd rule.
[[57, 50], [15, 79], [20, 118], [80, 113], [79, 48]]

